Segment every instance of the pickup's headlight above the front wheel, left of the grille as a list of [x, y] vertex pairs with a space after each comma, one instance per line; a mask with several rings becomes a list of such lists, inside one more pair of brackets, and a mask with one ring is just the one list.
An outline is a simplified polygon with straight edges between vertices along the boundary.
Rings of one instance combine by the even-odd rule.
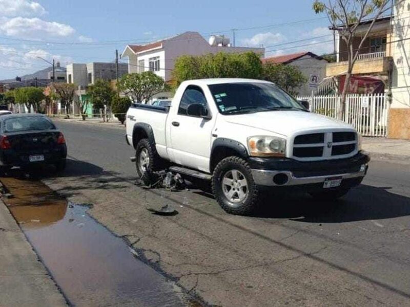
[[248, 138], [248, 149], [251, 156], [284, 157], [286, 140], [279, 137], [255, 136]]

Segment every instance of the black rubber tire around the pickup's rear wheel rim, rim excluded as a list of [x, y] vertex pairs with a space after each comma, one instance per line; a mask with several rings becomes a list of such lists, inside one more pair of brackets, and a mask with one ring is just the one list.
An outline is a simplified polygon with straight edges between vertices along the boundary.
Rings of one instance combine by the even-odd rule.
[[[148, 150], [148, 156], [150, 158], [150, 162], [148, 164], [147, 170], [142, 173], [139, 168], [140, 163], [140, 153], [141, 150], [146, 148]], [[139, 179], [145, 185], [153, 185], [158, 181], [158, 176], [155, 174], [155, 171], [160, 169], [160, 157], [158, 156], [156, 149], [153, 144], [148, 139], [141, 139], [139, 140], [136, 148], [135, 148], [135, 166], [137, 169], [137, 174]]]

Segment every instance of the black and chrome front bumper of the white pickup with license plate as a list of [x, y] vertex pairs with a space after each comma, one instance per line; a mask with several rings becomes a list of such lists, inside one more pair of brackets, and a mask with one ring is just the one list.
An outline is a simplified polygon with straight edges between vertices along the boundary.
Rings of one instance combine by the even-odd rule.
[[[326, 179], [360, 184], [370, 157], [359, 152], [348, 159], [299, 162], [293, 159], [250, 158], [252, 175], [259, 186], [318, 186]], [[275, 177], [277, 176], [277, 177]], [[280, 176], [281, 180], [274, 180]]]

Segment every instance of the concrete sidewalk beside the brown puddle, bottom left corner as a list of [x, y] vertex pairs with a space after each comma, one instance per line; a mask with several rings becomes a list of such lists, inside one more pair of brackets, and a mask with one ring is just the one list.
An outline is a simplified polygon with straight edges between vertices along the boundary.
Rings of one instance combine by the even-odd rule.
[[64, 296], [1, 200], [0, 306], [67, 306]]

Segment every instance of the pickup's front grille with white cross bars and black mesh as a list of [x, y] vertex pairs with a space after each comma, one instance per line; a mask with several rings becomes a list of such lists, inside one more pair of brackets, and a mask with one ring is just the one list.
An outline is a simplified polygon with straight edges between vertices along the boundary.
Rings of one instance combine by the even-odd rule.
[[329, 159], [346, 156], [357, 150], [357, 134], [353, 131], [326, 131], [298, 135], [293, 142], [295, 158]]

